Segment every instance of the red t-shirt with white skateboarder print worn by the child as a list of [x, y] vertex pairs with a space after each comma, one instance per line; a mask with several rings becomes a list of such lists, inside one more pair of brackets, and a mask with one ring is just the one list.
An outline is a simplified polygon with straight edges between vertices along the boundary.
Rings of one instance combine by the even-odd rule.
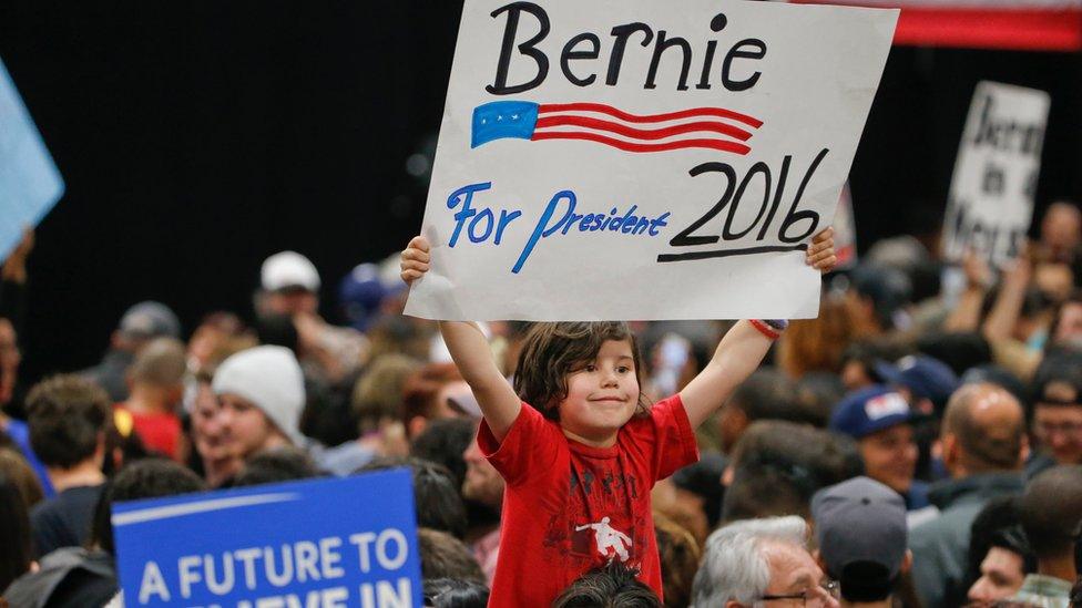
[[563, 435], [523, 403], [496, 441], [481, 422], [478, 445], [507, 481], [500, 555], [489, 606], [549, 606], [585, 571], [616, 558], [662, 595], [650, 491], [698, 460], [680, 395], [633, 418], [612, 447]]

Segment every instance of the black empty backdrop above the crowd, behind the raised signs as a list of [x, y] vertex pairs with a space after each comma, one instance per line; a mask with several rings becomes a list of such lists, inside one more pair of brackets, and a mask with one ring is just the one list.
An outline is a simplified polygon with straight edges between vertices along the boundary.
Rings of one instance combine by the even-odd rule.
[[[124, 309], [251, 312], [295, 249], [324, 312], [423, 212], [461, 2], [0, 0], [3, 59], [68, 190], [30, 258], [23, 380], [92, 364]], [[979, 80], [1052, 94], [1038, 213], [1082, 194], [1078, 54], [895, 48], [851, 172], [858, 240], [933, 230]], [[416, 158], [415, 158], [416, 163]], [[3, 218], [0, 218], [3, 220]]]

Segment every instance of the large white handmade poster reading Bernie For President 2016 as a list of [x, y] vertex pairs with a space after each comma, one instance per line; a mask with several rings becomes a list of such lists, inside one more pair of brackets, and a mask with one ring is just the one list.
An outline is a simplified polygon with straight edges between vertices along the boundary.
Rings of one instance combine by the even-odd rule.
[[897, 10], [467, 0], [406, 312], [809, 318]]

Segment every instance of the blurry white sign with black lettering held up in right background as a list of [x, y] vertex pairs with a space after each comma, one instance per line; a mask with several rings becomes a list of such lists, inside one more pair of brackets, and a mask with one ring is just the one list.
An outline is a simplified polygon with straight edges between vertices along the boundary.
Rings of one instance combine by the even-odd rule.
[[958, 146], [943, 218], [943, 254], [971, 248], [996, 264], [1014, 259], [1033, 219], [1049, 94], [978, 83]]

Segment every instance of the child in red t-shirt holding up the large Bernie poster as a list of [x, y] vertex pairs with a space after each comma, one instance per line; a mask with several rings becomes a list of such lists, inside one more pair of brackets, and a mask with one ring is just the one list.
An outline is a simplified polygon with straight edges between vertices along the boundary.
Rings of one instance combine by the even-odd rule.
[[[833, 268], [831, 236], [828, 228], [813, 239], [810, 266]], [[422, 277], [429, 259], [427, 239], [415, 237], [401, 255], [402, 279]], [[661, 596], [650, 491], [698, 460], [694, 429], [758, 367], [786, 324], [741, 321], [680, 393], [647, 406], [626, 323], [538, 323], [512, 389], [477, 324], [441, 321], [484, 414], [478, 445], [507, 481], [489, 606], [549, 606], [612, 559], [637, 568]]]

